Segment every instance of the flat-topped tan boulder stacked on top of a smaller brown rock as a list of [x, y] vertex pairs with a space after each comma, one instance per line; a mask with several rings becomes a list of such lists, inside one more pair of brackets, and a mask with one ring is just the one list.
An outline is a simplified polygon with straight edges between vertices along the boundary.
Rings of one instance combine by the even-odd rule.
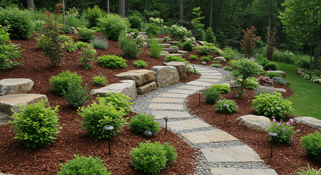
[[147, 82], [154, 81], [156, 77], [156, 72], [146, 69], [133, 70], [119, 73], [117, 74], [117, 77], [120, 79], [134, 80], [136, 86], [140, 86]]

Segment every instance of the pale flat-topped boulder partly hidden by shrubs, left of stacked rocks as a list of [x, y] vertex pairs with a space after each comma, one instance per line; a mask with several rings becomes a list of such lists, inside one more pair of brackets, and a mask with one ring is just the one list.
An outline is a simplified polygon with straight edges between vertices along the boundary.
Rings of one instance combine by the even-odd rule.
[[128, 96], [132, 99], [128, 99], [127, 101], [132, 102], [135, 100], [137, 96], [137, 90], [136, 90], [136, 83], [134, 80], [123, 80], [120, 81], [122, 83], [115, 83], [111, 84], [105, 87], [102, 87], [100, 89], [93, 89], [91, 90], [92, 94], [95, 96], [100, 96], [100, 97], [107, 97], [108, 92], [112, 92], [114, 94], [116, 93], [121, 93], [124, 94], [125, 96]]

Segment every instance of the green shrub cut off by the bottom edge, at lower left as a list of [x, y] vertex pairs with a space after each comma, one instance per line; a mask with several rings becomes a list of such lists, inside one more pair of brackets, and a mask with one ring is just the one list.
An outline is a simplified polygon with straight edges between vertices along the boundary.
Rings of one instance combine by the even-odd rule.
[[67, 163], [59, 164], [60, 170], [58, 175], [82, 175], [82, 174], [95, 174], [95, 175], [111, 175], [111, 171], [107, 171], [107, 168], [102, 163], [100, 157], [85, 157], [74, 154], [75, 159], [68, 160]]

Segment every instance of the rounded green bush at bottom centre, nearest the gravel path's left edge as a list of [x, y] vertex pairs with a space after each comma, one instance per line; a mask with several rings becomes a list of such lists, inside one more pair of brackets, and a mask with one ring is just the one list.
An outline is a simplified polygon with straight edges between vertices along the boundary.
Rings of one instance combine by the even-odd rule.
[[131, 164], [135, 169], [148, 174], [159, 173], [166, 165], [174, 162], [177, 156], [176, 148], [169, 146], [168, 143], [161, 145], [160, 142], [146, 141], [146, 143], [141, 142], [139, 146], [130, 151]]

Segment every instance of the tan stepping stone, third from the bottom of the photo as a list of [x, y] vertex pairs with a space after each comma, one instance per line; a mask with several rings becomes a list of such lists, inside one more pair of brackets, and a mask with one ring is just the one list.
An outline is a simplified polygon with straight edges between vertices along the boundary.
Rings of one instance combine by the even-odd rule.
[[239, 140], [221, 129], [183, 133], [182, 136], [193, 144]]

